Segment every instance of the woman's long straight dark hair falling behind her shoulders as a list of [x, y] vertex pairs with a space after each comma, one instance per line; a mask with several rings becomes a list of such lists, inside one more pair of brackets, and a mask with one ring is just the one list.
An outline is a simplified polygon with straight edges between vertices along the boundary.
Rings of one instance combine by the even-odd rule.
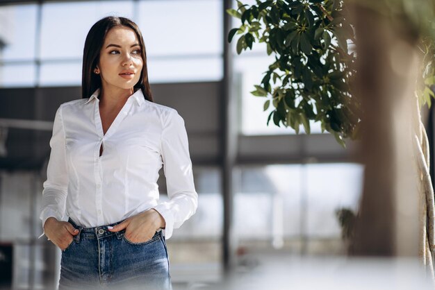
[[140, 51], [142, 54], [143, 67], [140, 74], [140, 79], [133, 89], [136, 92], [142, 89], [145, 99], [153, 101], [151, 89], [149, 88], [148, 71], [147, 71], [147, 52], [145, 51], [145, 43], [143, 41], [142, 33], [140, 33], [138, 25], [125, 17], [108, 16], [96, 22], [88, 32], [85, 40], [85, 47], [83, 49], [83, 68], [81, 78], [81, 97], [83, 99], [89, 98], [96, 89], [101, 87], [101, 76], [94, 74], [93, 69], [98, 64], [99, 52], [104, 44], [104, 39], [110, 29], [119, 26], [126, 26], [133, 29], [136, 37], [140, 42]]

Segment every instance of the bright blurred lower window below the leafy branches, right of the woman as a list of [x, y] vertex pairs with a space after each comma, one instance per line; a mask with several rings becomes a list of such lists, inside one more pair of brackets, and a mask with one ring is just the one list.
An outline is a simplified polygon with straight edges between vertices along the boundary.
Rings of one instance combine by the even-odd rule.
[[284, 164], [238, 167], [234, 222], [237, 253], [345, 253], [336, 211], [356, 212], [361, 165]]

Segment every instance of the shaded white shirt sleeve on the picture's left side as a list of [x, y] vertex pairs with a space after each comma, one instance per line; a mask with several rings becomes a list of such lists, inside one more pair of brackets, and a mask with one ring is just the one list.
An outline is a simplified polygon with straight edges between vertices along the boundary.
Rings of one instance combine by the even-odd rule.
[[42, 210], [40, 213], [42, 227], [44, 227], [45, 221], [50, 216], [54, 216], [56, 219], [60, 220], [65, 214], [68, 175], [65, 156], [65, 129], [63, 127], [62, 106], [60, 106], [56, 112], [53, 125], [53, 135], [49, 144], [51, 152], [47, 167], [47, 180], [43, 184]]

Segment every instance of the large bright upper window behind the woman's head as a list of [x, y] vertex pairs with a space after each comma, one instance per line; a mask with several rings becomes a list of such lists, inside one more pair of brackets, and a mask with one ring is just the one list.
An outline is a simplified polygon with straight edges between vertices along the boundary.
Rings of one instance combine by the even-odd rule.
[[220, 0], [160, 0], [0, 7], [0, 87], [81, 85], [85, 37], [108, 15], [140, 27], [150, 83], [221, 80], [221, 6]]

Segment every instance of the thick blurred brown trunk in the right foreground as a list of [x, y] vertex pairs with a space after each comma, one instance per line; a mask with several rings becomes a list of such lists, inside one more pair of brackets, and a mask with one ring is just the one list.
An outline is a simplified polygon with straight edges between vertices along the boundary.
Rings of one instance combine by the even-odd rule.
[[418, 171], [413, 158], [416, 37], [355, 3], [356, 95], [363, 108], [363, 195], [352, 253], [418, 257]]

